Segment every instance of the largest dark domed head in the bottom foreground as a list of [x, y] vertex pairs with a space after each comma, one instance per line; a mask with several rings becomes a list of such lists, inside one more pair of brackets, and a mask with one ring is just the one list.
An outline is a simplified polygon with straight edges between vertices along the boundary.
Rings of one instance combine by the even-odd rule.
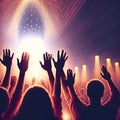
[[48, 93], [42, 87], [30, 88], [16, 116], [19, 120], [54, 120], [55, 116]]

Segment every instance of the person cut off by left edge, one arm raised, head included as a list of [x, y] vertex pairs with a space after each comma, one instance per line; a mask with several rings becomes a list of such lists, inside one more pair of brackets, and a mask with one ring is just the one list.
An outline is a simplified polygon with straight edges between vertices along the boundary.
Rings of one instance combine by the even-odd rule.
[[14, 53], [11, 55], [10, 49], [3, 49], [3, 58], [0, 58], [1, 63], [6, 67], [5, 76], [0, 87], [0, 120], [4, 120], [3, 116], [10, 102], [9, 87], [13, 56]]

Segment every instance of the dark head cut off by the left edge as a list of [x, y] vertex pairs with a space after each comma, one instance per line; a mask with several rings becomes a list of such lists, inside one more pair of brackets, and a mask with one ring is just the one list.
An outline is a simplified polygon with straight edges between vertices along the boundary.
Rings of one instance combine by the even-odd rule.
[[9, 96], [7, 90], [0, 87], [0, 116], [4, 113], [9, 105]]

